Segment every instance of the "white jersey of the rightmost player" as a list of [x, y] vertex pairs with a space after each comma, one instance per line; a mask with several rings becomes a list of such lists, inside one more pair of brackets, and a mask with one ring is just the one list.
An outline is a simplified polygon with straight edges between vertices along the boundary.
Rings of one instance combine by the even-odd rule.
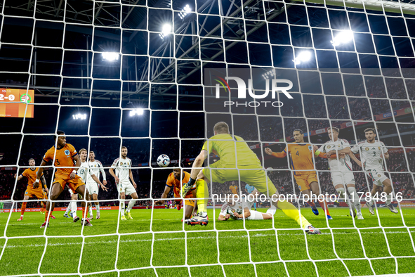
[[367, 141], [362, 141], [353, 146], [353, 153], [358, 153], [360, 149], [362, 155], [362, 166], [364, 169], [376, 169], [378, 171], [383, 171], [383, 158], [381, 155], [388, 152], [388, 148], [385, 147], [385, 144], [381, 141], [375, 141], [374, 143], [369, 143]]

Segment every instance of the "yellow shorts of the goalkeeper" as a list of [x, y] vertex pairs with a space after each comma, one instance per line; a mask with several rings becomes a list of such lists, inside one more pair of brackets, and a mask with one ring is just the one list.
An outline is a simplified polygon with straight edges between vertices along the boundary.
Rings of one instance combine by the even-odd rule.
[[[209, 179], [217, 183], [225, 183], [225, 181], [239, 181], [239, 176], [241, 181], [249, 183], [251, 186], [255, 187], [259, 192], [271, 197], [273, 194], [277, 193], [277, 188], [265, 174], [265, 170], [260, 168], [258, 165], [238, 165], [238, 169], [215, 169], [229, 167], [224, 165], [224, 162], [213, 162], [209, 167], [203, 169], [203, 174], [206, 176], [206, 179]], [[238, 174], [239, 172], [239, 174]]]

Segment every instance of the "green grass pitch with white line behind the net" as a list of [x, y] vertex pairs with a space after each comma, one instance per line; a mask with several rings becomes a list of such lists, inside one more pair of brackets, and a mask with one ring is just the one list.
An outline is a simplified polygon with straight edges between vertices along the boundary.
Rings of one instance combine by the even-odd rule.
[[323, 228], [322, 235], [280, 230], [297, 228], [280, 210], [274, 222], [279, 230], [272, 228], [270, 220], [213, 220], [209, 210], [209, 225], [184, 226], [187, 232], [180, 221], [183, 210], [133, 210], [133, 220], [119, 225], [117, 211], [104, 210], [101, 219], [84, 228], [82, 237], [81, 224], [62, 217], [63, 212], [53, 212], [56, 219], [46, 230], [46, 251], [44, 229], [39, 228], [42, 214], [27, 212], [23, 221], [17, 221], [20, 213], [13, 213], [5, 230], [9, 214], [4, 213], [0, 214], [0, 250], [4, 250], [0, 275], [104, 277], [118, 276], [115, 269], [119, 269], [119, 276], [156, 276], [151, 266], [158, 276], [195, 277], [310, 277], [317, 276], [316, 270], [319, 276], [361, 276], [395, 273], [396, 266], [398, 273], [415, 272], [415, 210], [392, 214], [383, 208], [378, 216], [363, 210], [364, 220], [355, 221], [359, 230], [350, 228], [353, 220], [348, 210], [331, 209], [332, 229], [324, 229], [327, 221], [321, 211], [318, 217], [308, 209], [301, 211], [315, 227]]

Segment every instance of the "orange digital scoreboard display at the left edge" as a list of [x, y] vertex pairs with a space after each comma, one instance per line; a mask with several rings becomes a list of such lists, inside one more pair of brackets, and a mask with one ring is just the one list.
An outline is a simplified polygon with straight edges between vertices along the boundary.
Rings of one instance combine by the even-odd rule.
[[[0, 117], [31, 117], [33, 118], [34, 90], [1, 89], [0, 88]], [[27, 110], [26, 110], [27, 106]]]

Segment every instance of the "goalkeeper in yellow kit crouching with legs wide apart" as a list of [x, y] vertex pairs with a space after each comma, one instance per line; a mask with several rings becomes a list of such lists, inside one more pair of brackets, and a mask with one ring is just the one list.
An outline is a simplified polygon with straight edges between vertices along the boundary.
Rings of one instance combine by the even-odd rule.
[[[192, 219], [186, 219], [186, 224], [199, 224], [203, 226], [209, 223], [206, 210], [209, 190], [206, 182], [209, 182], [209, 180], [218, 183], [238, 181], [240, 176], [241, 181], [249, 183], [268, 197], [271, 198], [272, 195], [274, 195], [272, 198], [272, 205], [282, 210], [282, 212], [288, 217], [291, 217], [291, 219], [297, 221], [301, 228], [304, 228], [307, 233], [321, 233], [320, 230], [314, 228], [310, 222], [298, 212], [294, 205], [286, 200], [278, 200], [277, 189], [265, 174], [258, 157], [249, 148], [244, 139], [229, 134], [228, 124], [225, 122], [216, 123], [215, 127], [213, 127], [213, 132], [214, 136], [204, 143], [202, 150], [196, 157], [195, 162], [193, 162], [189, 182], [183, 185], [180, 192], [181, 195], [186, 195], [196, 182], [196, 198], [198, 198], [197, 207], [199, 214]], [[218, 155], [220, 160], [209, 165], [209, 167], [200, 169], [204, 160], [206, 160], [206, 157], [209, 157], [210, 153]]]

